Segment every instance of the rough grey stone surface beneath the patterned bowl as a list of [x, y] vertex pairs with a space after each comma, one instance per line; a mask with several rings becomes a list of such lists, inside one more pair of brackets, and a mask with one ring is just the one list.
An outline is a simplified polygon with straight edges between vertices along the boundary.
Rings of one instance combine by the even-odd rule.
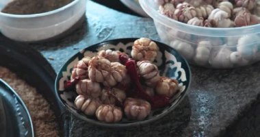
[[[92, 1], [88, 1], [86, 16], [86, 23], [65, 38], [31, 44], [56, 72], [68, 58], [96, 42], [126, 37], [159, 40], [151, 18], [122, 14]], [[161, 121], [138, 128], [107, 129], [71, 116], [70, 136], [219, 136], [259, 96], [260, 63], [230, 70], [191, 68], [190, 92]]]

